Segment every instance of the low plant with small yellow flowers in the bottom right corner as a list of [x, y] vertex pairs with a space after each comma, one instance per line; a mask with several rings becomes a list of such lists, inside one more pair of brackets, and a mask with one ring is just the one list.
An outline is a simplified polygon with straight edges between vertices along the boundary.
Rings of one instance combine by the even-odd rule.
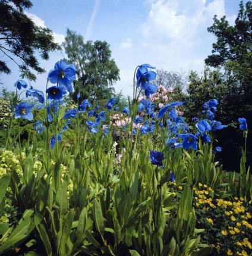
[[193, 201], [201, 238], [212, 245], [212, 255], [252, 254], [251, 205], [244, 198], [222, 198], [201, 183], [194, 188]]

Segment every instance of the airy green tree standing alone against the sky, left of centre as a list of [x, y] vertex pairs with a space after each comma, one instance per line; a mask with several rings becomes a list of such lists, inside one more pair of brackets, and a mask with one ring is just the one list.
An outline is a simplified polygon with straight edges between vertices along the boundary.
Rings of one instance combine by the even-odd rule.
[[77, 80], [74, 82], [73, 99], [79, 92], [81, 99], [89, 98], [99, 103], [114, 93], [112, 85], [119, 80], [119, 69], [111, 59], [111, 50], [106, 41], [84, 43], [83, 36], [67, 29], [65, 42], [62, 43], [68, 62], [77, 68]]

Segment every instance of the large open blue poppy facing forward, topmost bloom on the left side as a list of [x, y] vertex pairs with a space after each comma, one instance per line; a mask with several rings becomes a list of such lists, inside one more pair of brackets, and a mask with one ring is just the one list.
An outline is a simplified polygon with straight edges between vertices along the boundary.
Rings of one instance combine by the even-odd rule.
[[72, 91], [71, 83], [75, 79], [76, 68], [74, 65], [67, 65], [65, 61], [58, 61], [54, 69], [49, 71], [48, 79], [51, 83], [58, 83], [68, 91]]

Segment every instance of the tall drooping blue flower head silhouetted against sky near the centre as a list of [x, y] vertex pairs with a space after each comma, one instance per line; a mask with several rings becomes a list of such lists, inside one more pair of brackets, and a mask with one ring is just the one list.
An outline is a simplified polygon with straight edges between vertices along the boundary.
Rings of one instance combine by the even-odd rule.
[[150, 81], [156, 79], [156, 72], [151, 71], [152, 65], [142, 64], [137, 70], [137, 88], [141, 86], [147, 98], [158, 90], [158, 86], [153, 85]]

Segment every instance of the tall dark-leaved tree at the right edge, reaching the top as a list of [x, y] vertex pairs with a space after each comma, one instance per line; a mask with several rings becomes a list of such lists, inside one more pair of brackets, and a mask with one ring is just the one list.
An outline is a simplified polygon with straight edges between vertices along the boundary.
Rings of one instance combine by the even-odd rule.
[[240, 2], [235, 25], [230, 26], [226, 17], [213, 18], [213, 25], [207, 30], [217, 37], [213, 43], [212, 55], [205, 63], [211, 67], [223, 68], [228, 93], [226, 103], [235, 105], [251, 116], [252, 104], [252, 2]]

